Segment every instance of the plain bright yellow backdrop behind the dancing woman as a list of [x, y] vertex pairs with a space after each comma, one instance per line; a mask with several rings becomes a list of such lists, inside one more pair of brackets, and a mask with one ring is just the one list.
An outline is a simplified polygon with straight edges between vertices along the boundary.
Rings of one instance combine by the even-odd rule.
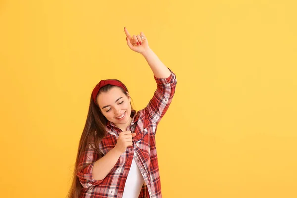
[[2, 198], [65, 198], [90, 94], [156, 84], [123, 27], [177, 75], [156, 135], [164, 198], [297, 197], [294, 0], [1, 0]]

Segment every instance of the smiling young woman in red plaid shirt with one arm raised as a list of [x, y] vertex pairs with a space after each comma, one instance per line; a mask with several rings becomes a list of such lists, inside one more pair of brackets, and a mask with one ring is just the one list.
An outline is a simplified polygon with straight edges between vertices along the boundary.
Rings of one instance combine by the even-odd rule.
[[155, 134], [175, 93], [176, 76], [148, 46], [143, 32], [127, 45], [143, 55], [157, 84], [148, 105], [135, 111], [127, 87], [101, 80], [93, 89], [68, 198], [161, 198]]

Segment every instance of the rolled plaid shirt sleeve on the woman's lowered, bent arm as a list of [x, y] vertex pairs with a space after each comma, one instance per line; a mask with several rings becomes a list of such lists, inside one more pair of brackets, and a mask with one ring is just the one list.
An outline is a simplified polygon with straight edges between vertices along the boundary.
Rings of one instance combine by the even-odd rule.
[[91, 146], [82, 156], [79, 167], [84, 167], [77, 173], [77, 177], [84, 188], [100, 184], [103, 180], [95, 180], [92, 176], [94, 163], [98, 160], [98, 154]]

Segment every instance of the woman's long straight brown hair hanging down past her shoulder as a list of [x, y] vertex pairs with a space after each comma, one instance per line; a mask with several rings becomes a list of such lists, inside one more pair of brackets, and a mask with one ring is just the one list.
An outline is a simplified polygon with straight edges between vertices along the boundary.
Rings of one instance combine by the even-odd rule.
[[[119, 81], [117, 79], [112, 79], [112, 80]], [[119, 81], [119, 82], [122, 83], [121, 81]], [[115, 87], [115, 86], [106, 85], [106, 86], [102, 87], [99, 90], [97, 96], [101, 92], [108, 92], [113, 87]], [[124, 85], [124, 87], [128, 91], [128, 89], [125, 85]], [[126, 93], [126, 91], [122, 88], [121, 88], [121, 90], [128, 97], [128, 94]], [[132, 102], [133, 102], [133, 100], [132, 100]], [[131, 105], [131, 110], [133, 110], [131, 103], [130, 103], [130, 105]], [[95, 150], [95, 152], [98, 154], [99, 158], [103, 156], [103, 153], [99, 149], [99, 143], [102, 141], [102, 139], [105, 137], [105, 135], [107, 133], [106, 129], [105, 129], [106, 123], [107, 123], [106, 117], [102, 114], [101, 109], [97, 106], [97, 104], [95, 104], [92, 94], [91, 94], [87, 120], [86, 120], [86, 124], [83, 129], [83, 133], [81, 135], [80, 141], [79, 141], [78, 152], [77, 152], [77, 156], [76, 156], [76, 162], [75, 162], [75, 167], [74, 167], [74, 172], [73, 172], [73, 177], [72, 177], [72, 185], [71, 185], [70, 190], [67, 194], [67, 198], [79, 198], [79, 196], [80, 196], [80, 192], [81, 192], [81, 189], [83, 188], [83, 186], [81, 185], [81, 183], [77, 177], [77, 173], [79, 171], [81, 171], [82, 169], [84, 169], [88, 165], [79, 167], [79, 161], [83, 157], [83, 154], [86, 153], [89, 146], [91, 146]]]

